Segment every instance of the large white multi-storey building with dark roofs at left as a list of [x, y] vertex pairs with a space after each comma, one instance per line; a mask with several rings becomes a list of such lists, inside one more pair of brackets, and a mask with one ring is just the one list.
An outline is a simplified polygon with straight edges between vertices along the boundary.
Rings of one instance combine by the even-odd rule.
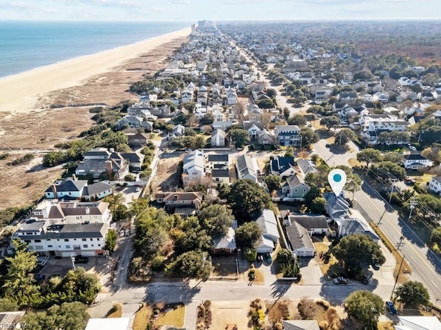
[[28, 249], [53, 256], [103, 255], [105, 236], [112, 220], [109, 203], [43, 201], [22, 223], [12, 239]]

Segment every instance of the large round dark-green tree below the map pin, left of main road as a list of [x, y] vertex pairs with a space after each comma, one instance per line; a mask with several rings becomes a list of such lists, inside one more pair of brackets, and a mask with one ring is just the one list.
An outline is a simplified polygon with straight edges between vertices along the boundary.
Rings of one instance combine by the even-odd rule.
[[382, 265], [386, 261], [380, 246], [366, 234], [343, 237], [334, 247], [334, 255], [348, 274], [354, 276], [369, 265]]

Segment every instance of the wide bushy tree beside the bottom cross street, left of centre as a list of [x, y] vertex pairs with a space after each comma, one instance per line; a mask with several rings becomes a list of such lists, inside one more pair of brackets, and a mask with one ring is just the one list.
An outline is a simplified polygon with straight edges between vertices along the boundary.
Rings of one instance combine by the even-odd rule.
[[165, 272], [172, 272], [183, 277], [199, 278], [207, 281], [212, 272], [212, 264], [205, 252], [189, 251], [181, 254]]

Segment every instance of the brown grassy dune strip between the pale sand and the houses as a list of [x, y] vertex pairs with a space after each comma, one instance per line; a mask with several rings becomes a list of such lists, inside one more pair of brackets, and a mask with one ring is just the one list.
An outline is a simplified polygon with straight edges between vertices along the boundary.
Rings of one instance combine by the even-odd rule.
[[[0, 210], [27, 206], [39, 199], [63, 169], [38, 166], [43, 153], [54, 150], [54, 144], [74, 140], [81, 131], [92, 126], [89, 109], [96, 104], [113, 106], [121, 100], [136, 100], [127, 92], [130, 85], [166, 65], [167, 56], [187, 41], [181, 37], [161, 47], [127, 59], [110, 72], [91, 76], [83, 85], [57, 89], [39, 96], [30, 111], [0, 111]], [[25, 92], [25, 91], [23, 91]], [[4, 108], [3, 108], [4, 110]], [[9, 162], [34, 153], [31, 163], [10, 166]]]

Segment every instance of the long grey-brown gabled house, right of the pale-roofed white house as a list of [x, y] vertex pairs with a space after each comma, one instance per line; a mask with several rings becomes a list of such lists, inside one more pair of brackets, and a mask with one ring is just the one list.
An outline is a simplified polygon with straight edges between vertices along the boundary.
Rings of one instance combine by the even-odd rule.
[[294, 256], [314, 256], [316, 249], [306, 228], [296, 221], [285, 221], [286, 216], [289, 219], [289, 211], [282, 211], [289, 249]]

